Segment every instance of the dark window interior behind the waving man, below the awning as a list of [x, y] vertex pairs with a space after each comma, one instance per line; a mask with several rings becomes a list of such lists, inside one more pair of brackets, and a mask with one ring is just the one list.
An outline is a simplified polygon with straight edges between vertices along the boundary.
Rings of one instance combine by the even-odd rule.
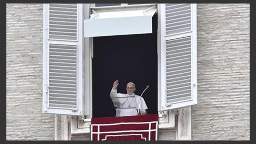
[[136, 84], [135, 94], [147, 103], [148, 114], [157, 113], [157, 15], [152, 19], [153, 33], [102, 36], [93, 38], [92, 117], [115, 116], [109, 97], [115, 80], [119, 93], [126, 93], [128, 82]]

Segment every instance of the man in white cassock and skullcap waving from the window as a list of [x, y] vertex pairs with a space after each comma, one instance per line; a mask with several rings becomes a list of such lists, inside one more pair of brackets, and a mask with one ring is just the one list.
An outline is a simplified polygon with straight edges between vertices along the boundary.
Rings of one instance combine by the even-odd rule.
[[145, 100], [134, 94], [136, 88], [132, 82], [126, 85], [126, 94], [117, 93], [117, 86], [119, 81], [116, 80], [113, 84], [110, 92], [110, 98], [112, 99], [116, 108], [116, 116], [137, 116], [147, 115], [146, 109], [148, 109]]

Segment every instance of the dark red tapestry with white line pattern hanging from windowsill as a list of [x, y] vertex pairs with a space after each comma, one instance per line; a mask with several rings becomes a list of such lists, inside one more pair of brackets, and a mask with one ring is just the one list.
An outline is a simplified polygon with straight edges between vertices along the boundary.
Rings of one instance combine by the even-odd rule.
[[91, 140], [157, 140], [158, 114], [92, 118]]

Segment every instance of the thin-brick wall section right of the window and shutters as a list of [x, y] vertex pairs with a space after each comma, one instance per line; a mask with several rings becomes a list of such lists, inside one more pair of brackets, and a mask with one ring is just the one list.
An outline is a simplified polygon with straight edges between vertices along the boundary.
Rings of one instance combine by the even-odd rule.
[[250, 140], [250, 4], [197, 4], [193, 140]]

